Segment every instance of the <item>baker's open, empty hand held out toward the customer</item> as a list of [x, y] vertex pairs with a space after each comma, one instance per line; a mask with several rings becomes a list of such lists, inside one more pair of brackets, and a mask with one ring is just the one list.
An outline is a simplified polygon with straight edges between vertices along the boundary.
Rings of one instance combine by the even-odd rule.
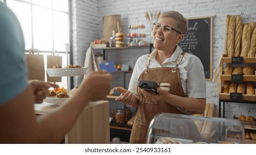
[[137, 99], [132, 92], [122, 87], [117, 87], [116, 90], [121, 93], [121, 95], [115, 99], [116, 101], [122, 101], [124, 104], [131, 105], [132, 107], [137, 106], [139, 99]]

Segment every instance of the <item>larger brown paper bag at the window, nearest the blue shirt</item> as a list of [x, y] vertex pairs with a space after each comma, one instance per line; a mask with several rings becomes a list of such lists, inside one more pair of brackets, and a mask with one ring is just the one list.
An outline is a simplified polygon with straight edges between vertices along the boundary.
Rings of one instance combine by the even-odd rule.
[[[36, 54], [34, 54], [36, 53]], [[44, 55], [39, 54], [38, 49], [30, 49], [26, 54], [28, 79], [29, 80], [45, 80]]]

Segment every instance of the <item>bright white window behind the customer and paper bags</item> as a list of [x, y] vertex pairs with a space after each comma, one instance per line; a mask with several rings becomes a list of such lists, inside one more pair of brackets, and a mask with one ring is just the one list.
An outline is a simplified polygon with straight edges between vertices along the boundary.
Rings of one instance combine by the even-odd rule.
[[[70, 43], [70, 0], [0, 0], [12, 9], [21, 23], [25, 50], [39, 49], [46, 55], [57, 50], [68, 64], [65, 43]], [[70, 43], [71, 44], [71, 43]], [[69, 57], [69, 56], [68, 56]], [[46, 63], [45, 63], [46, 64]], [[46, 67], [45, 67], [46, 68]], [[66, 86], [66, 78], [59, 85]]]

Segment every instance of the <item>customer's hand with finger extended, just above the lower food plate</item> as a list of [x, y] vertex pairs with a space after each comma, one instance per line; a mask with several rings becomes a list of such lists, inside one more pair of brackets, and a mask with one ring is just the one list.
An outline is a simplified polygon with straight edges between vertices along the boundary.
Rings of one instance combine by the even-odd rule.
[[57, 84], [50, 82], [40, 81], [40, 80], [29, 80], [28, 81], [30, 90], [34, 95], [35, 104], [40, 104], [45, 99], [49, 92], [50, 87], [59, 87]]

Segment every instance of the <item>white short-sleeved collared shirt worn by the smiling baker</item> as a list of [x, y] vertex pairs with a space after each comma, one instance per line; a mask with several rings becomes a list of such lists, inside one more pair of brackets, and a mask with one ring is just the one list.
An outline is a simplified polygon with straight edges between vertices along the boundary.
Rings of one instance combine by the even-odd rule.
[[[156, 61], [157, 49], [153, 50], [150, 54], [150, 68], [160, 68], [160, 67], [171, 67], [175, 68], [175, 62], [178, 56], [181, 55], [182, 49], [177, 45], [175, 52], [172, 54], [171, 58], [167, 58], [162, 65]], [[129, 91], [137, 95], [137, 82], [142, 71], [146, 69], [146, 61], [148, 55], [140, 56], [137, 60], [134, 71], [131, 76], [131, 81], [129, 84]], [[178, 66], [180, 69], [180, 79], [183, 91], [186, 97], [194, 98], [204, 98], [206, 99], [206, 79], [204, 76], [203, 65], [197, 56], [193, 54], [185, 53], [181, 60], [181, 64]], [[159, 75], [161, 78], [161, 75]]]

